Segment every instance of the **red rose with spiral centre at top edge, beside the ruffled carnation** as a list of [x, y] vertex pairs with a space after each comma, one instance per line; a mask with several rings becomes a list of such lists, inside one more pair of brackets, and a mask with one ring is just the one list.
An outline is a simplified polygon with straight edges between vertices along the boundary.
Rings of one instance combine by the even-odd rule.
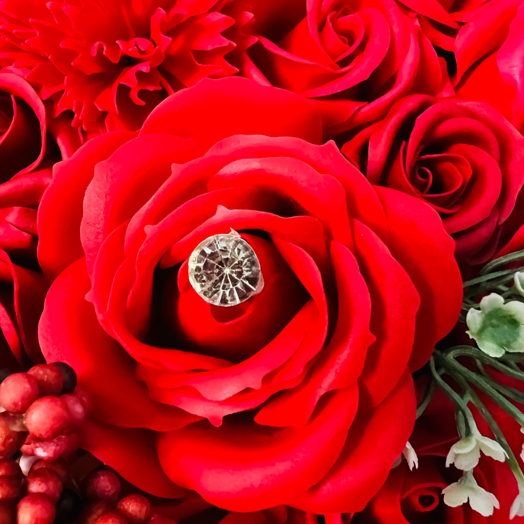
[[383, 118], [410, 92], [442, 90], [431, 43], [394, 0], [252, 5], [249, 30], [259, 42], [249, 48], [253, 64], [244, 74], [310, 97], [330, 137]]

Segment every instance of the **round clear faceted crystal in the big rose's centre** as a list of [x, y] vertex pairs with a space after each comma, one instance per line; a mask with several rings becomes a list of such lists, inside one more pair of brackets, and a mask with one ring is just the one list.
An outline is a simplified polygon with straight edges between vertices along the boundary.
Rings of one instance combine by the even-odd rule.
[[253, 248], [236, 232], [206, 238], [189, 257], [189, 281], [214, 305], [237, 305], [260, 293], [264, 277]]

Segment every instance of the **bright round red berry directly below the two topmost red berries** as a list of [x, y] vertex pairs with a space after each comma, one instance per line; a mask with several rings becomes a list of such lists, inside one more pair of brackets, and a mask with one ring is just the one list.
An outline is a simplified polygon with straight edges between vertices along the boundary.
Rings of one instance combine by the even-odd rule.
[[58, 397], [35, 400], [26, 413], [29, 433], [39, 439], [52, 439], [59, 435], [69, 422], [65, 402]]

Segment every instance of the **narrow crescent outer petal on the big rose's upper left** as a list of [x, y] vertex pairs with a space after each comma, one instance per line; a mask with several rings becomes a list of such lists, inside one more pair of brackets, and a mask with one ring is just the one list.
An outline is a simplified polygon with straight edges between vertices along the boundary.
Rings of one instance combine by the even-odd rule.
[[[134, 133], [129, 132], [107, 133], [90, 140], [68, 160], [55, 164], [38, 214], [38, 261], [49, 280], [84, 256], [79, 234], [82, 202], [96, 163], [133, 137]], [[67, 199], [63, 198], [64, 192]], [[64, 221], [64, 216], [68, 220]]]

